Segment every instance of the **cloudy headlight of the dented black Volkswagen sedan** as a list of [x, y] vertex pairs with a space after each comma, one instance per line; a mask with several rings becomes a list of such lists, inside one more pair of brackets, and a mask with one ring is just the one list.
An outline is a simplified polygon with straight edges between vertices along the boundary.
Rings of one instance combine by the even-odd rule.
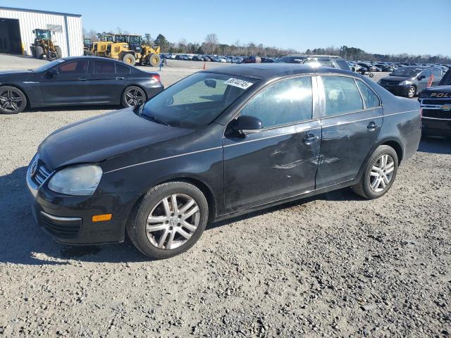
[[58, 171], [49, 181], [49, 189], [66, 195], [88, 196], [99, 185], [102, 170], [99, 165], [81, 164]]

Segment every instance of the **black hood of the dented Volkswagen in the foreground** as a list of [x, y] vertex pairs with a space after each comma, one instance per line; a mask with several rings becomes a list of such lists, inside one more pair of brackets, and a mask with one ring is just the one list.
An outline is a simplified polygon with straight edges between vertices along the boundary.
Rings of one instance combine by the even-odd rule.
[[154, 123], [125, 108], [62, 127], [39, 145], [39, 157], [51, 169], [75, 163], [99, 163], [191, 130]]

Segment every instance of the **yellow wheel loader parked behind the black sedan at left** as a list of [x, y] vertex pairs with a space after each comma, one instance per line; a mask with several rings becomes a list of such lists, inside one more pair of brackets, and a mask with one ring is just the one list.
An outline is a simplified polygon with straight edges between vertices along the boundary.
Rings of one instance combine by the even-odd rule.
[[106, 47], [105, 56], [123, 61], [128, 65], [152, 65], [157, 67], [160, 64], [160, 47], [152, 48], [142, 44], [140, 35], [121, 35], [123, 41], [109, 44]]

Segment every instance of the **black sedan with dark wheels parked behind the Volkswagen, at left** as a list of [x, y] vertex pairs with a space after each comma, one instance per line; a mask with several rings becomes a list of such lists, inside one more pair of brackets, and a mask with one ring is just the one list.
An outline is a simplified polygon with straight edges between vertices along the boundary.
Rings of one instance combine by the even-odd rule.
[[0, 113], [26, 107], [136, 106], [162, 90], [158, 73], [106, 58], [59, 58], [36, 69], [0, 72]]

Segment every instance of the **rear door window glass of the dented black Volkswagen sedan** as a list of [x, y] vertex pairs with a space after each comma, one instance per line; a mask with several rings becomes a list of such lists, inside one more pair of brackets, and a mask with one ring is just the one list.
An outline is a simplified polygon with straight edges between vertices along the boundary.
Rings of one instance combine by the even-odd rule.
[[326, 110], [324, 116], [362, 111], [364, 104], [352, 77], [322, 76]]

